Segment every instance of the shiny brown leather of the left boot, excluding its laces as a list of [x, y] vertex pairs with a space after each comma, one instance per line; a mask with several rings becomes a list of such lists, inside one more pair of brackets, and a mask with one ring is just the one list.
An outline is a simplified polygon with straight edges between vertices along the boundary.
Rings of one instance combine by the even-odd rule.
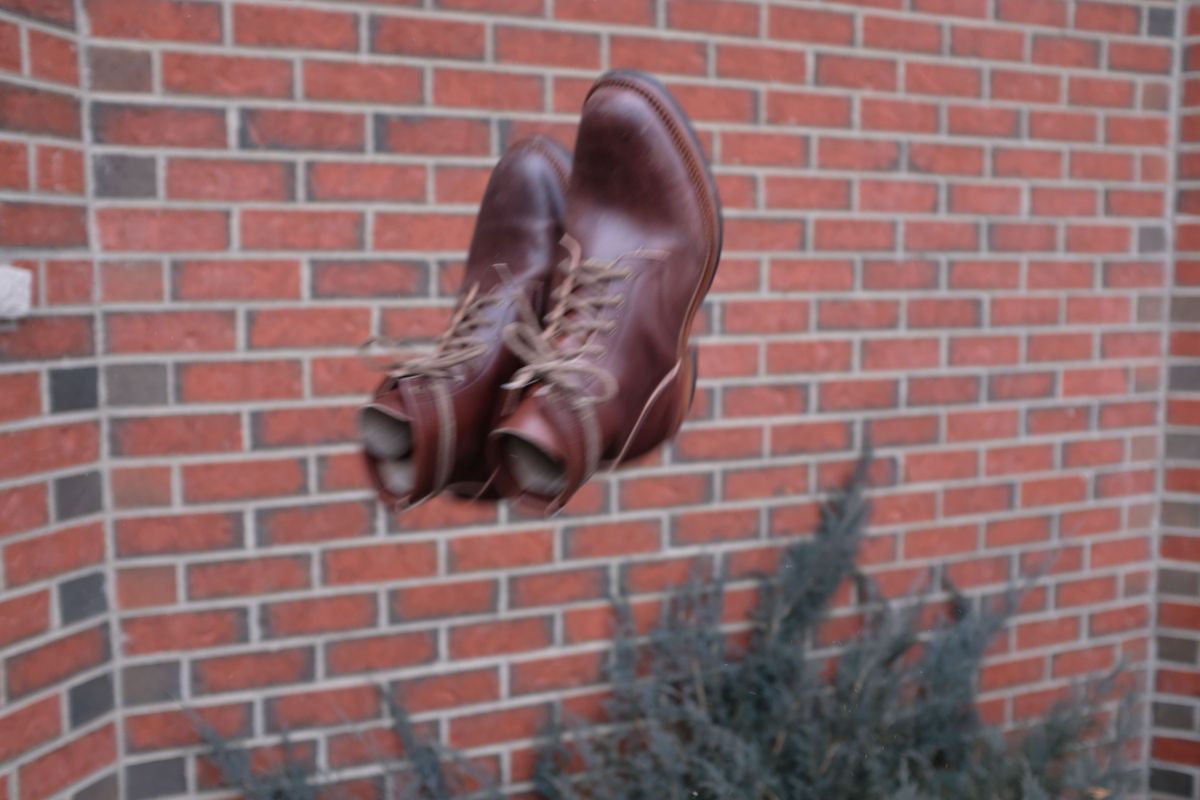
[[460, 299], [473, 285], [497, 299], [479, 314], [482, 325], [476, 333], [487, 347], [455, 366], [451, 377], [386, 378], [379, 385], [373, 403], [408, 419], [414, 441], [414, 485], [403, 495], [388, 491], [380, 464], [366, 456], [384, 501], [409, 505], [443, 488], [474, 495], [488, 485], [484, 444], [498, 415], [502, 385], [520, 366], [500, 331], [529, 309], [535, 314], [544, 309], [551, 272], [562, 258], [569, 169], [569, 154], [541, 137], [514, 144], [496, 166], [460, 289]]

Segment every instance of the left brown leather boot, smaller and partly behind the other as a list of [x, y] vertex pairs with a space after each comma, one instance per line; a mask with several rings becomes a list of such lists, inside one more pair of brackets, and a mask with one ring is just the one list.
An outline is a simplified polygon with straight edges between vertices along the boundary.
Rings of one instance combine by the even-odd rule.
[[380, 499], [397, 509], [443, 489], [494, 494], [484, 446], [502, 385], [521, 366], [503, 329], [540, 314], [562, 258], [570, 155], [534, 137], [492, 172], [467, 254], [458, 305], [433, 351], [389, 367], [359, 423]]

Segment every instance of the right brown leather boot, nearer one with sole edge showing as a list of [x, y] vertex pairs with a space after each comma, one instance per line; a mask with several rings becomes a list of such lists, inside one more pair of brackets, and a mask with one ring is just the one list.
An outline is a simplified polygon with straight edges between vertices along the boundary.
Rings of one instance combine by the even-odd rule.
[[691, 404], [688, 336], [720, 258], [720, 201], [686, 116], [648, 76], [610, 72], [588, 94], [563, 245], [545, 330], [505, 330], [526, 362], [510, 387], [526, 391], [488, 444], [500, 491], [546, 513], [674, 435]]

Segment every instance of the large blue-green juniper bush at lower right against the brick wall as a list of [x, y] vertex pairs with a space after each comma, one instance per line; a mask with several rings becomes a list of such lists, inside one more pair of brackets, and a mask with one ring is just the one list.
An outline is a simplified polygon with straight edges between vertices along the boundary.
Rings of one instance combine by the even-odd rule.
[[[721, 628], [724, 579], [692, 581], [648, 638], [619, 616], [606, 723], [559, 726], [539, 760], [547, 800], [1040, 800], [1127, 796], [1130, 700], [1106, 727], [1111, 678], [1013, 744], [976, 711], [1000, 608], [952, 591], [949, 619], [922, 632], [924, 604], [898, 608], [856, 567], [869, 505], [864, 457], [811, 539], [763, 581], [749, 644]], [[846, 579], [870, 599], [863, 632], [824, 675], [812, 640]], [[1128, 698], [1128, 694], [1127, 694]], [[1096, 741], [1100, 736], [1100, 741]]]

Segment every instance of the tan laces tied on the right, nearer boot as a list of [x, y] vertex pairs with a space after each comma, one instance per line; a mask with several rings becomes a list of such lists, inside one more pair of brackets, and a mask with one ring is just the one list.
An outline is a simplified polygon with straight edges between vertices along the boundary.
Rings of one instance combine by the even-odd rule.
[[[601, 313], [625, 301], [625, 295], [608, 287], [632, 275], [632, 270], [620, 266], [625, 259], [642, 258], [662, 260], [666, 253], [653, 249], [636, 249], [612, 260], [583, 258], [583, 248], [570, 235], [564, 235], [563, 247], [568, 258], [559, 269], [566, 277], [554, 289], [553, 307], [545, 318], [545, 327], [539, 326], [533, 311], [526, 306], [522, 321], [504, 329], [508, 344], [524, 366], [514, 373], [505, 389], [521, 389], [541, 381], [562, 389], [578, 402], [604, 403], [617, 395], [617, 379], [611, 372], [587, 361], [587, 356], [602, 356], [607, 348], [595, 341], [596, 333], [611, 333], [616, 320], [600, 319]], [[582, 383], [594, 378], [600, 384], [599, 395], [587, 395]]]

